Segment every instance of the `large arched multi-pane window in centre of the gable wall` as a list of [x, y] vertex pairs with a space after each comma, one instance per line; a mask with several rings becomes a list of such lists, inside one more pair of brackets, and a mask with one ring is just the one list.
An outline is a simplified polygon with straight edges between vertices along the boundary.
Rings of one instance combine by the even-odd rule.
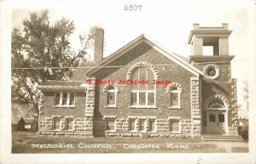
[[137, 67], [131, 75], [131, 106], [155, 107], [154, 72], [147, 66]]

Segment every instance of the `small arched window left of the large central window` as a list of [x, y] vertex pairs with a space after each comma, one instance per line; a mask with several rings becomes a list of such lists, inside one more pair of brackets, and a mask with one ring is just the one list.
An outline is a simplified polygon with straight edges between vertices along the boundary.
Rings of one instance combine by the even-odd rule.
[[117, 107], [117, 93], [119, 87], [117, 85], [106, 84], [103, 88], [103, 92], [107, 93], [107, 106], [105, 107]]

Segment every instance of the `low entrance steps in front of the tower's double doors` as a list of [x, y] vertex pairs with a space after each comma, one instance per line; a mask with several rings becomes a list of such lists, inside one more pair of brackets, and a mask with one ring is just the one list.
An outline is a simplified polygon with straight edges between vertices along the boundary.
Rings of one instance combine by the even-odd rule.
[[201, 140], [203, 141], [227, 141], [227, 142], [242, 142], [241, 136], [227, 136], [220, 134], [202, 134]]

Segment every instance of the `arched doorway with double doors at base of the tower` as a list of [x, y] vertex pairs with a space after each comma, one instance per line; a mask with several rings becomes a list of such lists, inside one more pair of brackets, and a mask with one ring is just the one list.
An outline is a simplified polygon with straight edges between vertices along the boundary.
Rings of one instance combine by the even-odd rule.
[[228, 101], [220, 95], [207, 99], [207, 133], [228, 134]]

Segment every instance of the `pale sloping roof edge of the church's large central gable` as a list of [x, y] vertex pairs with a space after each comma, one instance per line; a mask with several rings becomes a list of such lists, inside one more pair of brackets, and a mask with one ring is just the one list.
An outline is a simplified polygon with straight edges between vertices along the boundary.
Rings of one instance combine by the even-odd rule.
[[203, 72], [195, 68], [193, 65], [190, 65], [187, 61], [183, 60], [182, 57], [180, 57], [177, 54], [174, 54], [166, 48], [161, 47], [157, 42], [154, 42], [152, 39], [147, 37], [146, 35], [141, 35], [134, 39], [133, 41], [126, 44], [124, 47], [119, 48], [117, 51], [115, 51], [113, 54], [110, 54], [107, 58], [102, 59], [100, 62], [96, 63], [93, 68], [90, 68], [89, 71], [87, 71], [87, 76], [91, 76], [96, 71], [99, 71], [102, 67], [107, 66], [111, 62], [113, 62], [115, 59], [118, 59], [126, 52], [130, 51], [132, 48], [135, 48], [137, 45], [139, 45], [142, 42], [148, 43], [149, 46], [154, 48], [155, 50], [159, 51], [161, 54], [164, 54], [168, 59], [171, 59], [177, 65], [182, 66], [187, 71], [193, 73], [195, 76], [203, 75]]

